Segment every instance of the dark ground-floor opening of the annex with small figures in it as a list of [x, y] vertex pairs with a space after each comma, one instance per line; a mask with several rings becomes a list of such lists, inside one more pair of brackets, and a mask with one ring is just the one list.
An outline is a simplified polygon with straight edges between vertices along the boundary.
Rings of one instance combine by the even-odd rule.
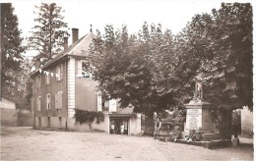
[[129, 118], [110, 118], [110, 134], [128, 134]]

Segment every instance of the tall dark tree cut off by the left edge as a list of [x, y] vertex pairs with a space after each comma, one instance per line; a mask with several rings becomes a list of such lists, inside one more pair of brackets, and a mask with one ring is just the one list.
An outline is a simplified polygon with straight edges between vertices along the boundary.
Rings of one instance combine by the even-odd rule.
[[[11, 3], [1, 3], [2, 95], [13, 99], [22, 96], [23, 61], [22, 31]], [[18, 96], [19, 95], [19, 96]]]

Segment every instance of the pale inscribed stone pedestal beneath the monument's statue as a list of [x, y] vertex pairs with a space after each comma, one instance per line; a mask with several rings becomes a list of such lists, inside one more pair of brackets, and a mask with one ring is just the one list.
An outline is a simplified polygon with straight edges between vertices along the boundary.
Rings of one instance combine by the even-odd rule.
[[189, 130], [198, 128], [202, 128], [203, 133], [213, 133], [211, 103], [191, 100], [185, 107], [187, 110], [185, 134], [188, 134]]

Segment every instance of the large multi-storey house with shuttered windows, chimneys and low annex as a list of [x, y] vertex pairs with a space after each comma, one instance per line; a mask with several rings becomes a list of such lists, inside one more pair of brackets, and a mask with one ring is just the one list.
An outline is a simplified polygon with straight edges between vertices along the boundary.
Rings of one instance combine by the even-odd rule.
[[90, 131], [88, 124], [76, 124], [75, 109], [100, 111], [104, 122], [92, 125], [93, 130], [109, 133], [110, 123], [116, 132], [124, 123], [125, 134], [141, 133], [141, 114], [132, 114], [133, 108], [119, 108], [115, 99], [104, 101], [96, 91], [96, 80], [87, 72], [90, 44], [96, 35], [88, 33], [79, 39], [79, 29], [72, 28], [73, 43], [45, 65], [37, 62], [32, 72], [32, 110], [35, 129], [64, 129]]

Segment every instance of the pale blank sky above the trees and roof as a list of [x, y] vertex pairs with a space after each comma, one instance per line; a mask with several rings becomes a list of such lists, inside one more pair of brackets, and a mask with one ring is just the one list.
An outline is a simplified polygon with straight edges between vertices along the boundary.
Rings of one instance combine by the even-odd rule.
[[[18, 16], [19, 28], [22, 29], [22, 36], [29, 37], [30, 30], [34, 26], [33, 19], [36, 15], [34, 5], [41, 2], [55, 2], [65, 11], [62, 15], [64, 22], [68, 23], [69, 33], [71, 28], [79, 28], [79, 37], [90, 31], [99, 29], [103, 33], [106, 25], [113, 25], [114, 28], [128, 27], [129, 33], [138, 32], [144, 22], [149, 25], [161, 24], [163, 30], [170, 29], [174, 34], [178, 33], [195, 14], [211, 13], [212, 9], [220, 9], [222, 1], [189, 1], [189, 0], [84, 0], [84, 1], [7, 1], [12, 2], [15, 8], [14, 14]], [[226, 1], [225, 1], [226, 2]], [[228, 2], [228, 1], [227, 1]], [[69, 38], [69, 44], [71, 43]], [[29, 55], [32, 52], [27, 52]]]

